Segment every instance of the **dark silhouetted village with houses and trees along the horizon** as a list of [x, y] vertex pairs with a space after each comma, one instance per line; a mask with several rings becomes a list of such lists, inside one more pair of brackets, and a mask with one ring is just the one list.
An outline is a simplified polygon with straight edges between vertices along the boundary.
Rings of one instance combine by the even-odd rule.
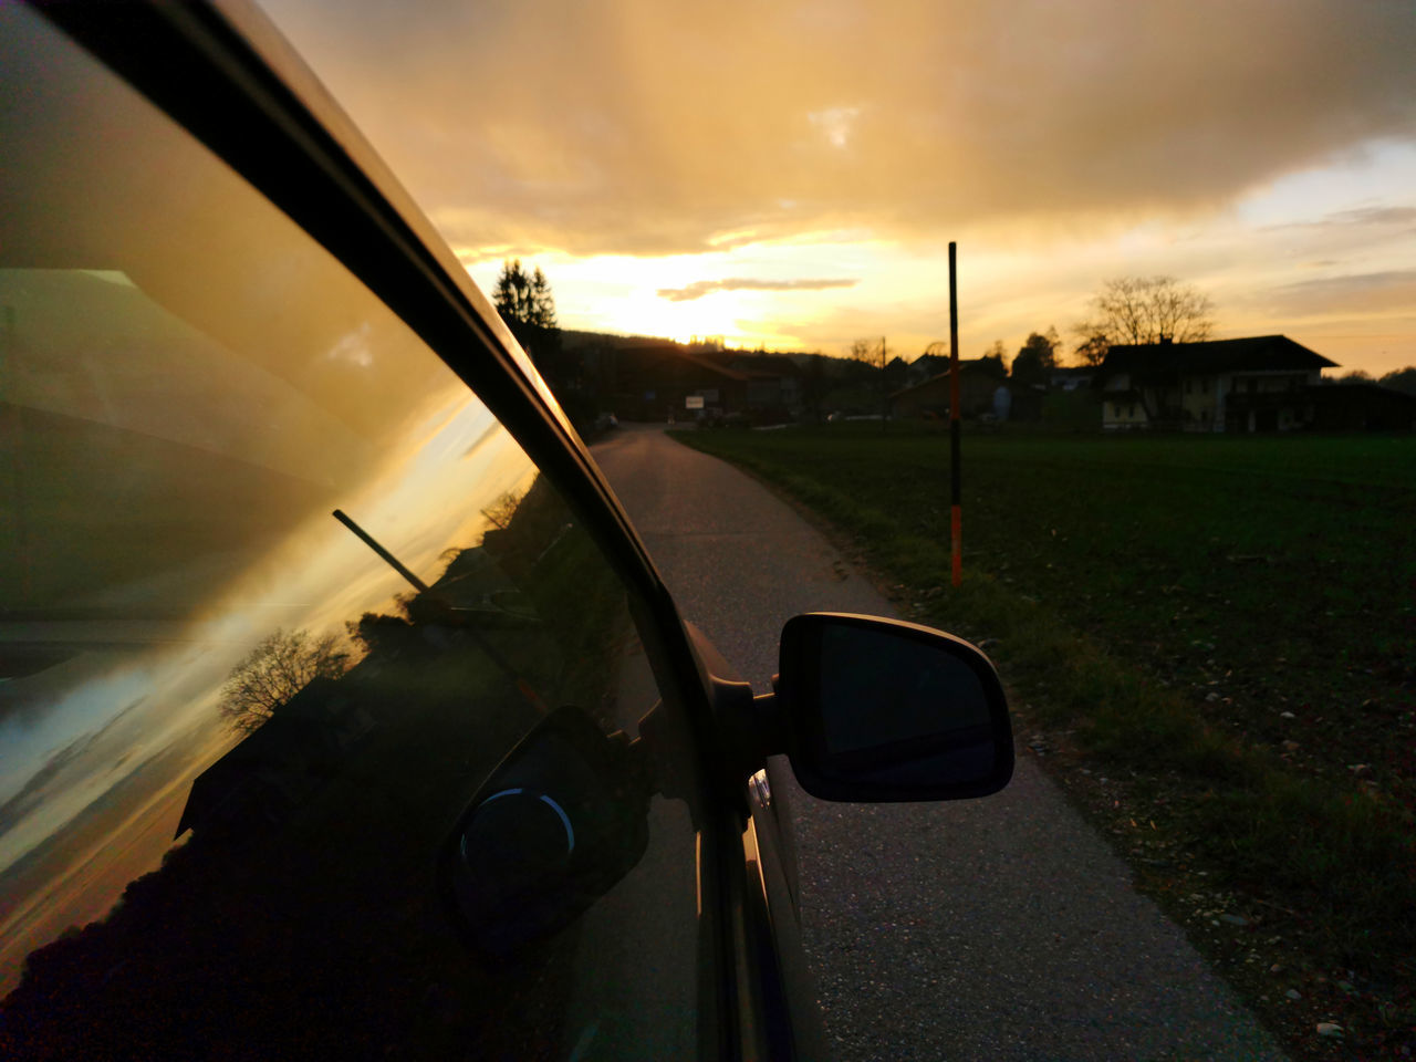
[[[1029, 343], [1035, 338], [1042, 337]], [[885, 358], [882, 346], [831, 357], [585, 331], [559, 331], [558, 340], [555, 377], [573, 379], [576, 399], [566, 406], [589, 419], [593, 405], [600, 428], [612, 419], [765, 428], [950, 416], [950, 364], [942, 344], [913, 358]], [[984, 357], [960, 358], [960, 416], [1097, 432], [1416, 426], [1416, 370], [1382, 381], [1324, 377], [1337, 362], [1286, 336], [1110, 346], [1097, 364], [1076, 367], [1025, 358], [1028, 350], [1011, 367], [1001, 344]]]

